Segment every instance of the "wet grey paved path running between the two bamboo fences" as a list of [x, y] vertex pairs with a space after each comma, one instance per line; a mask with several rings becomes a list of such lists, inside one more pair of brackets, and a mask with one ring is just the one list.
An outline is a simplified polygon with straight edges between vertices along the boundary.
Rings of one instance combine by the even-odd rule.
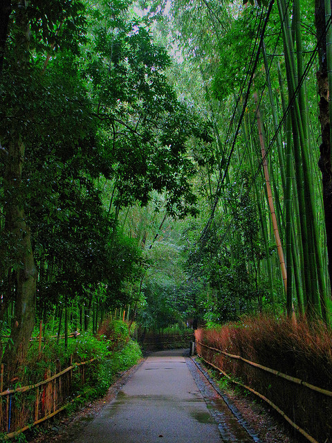
[[220, 443], [183, 350], [151, 354], [75, 443]]

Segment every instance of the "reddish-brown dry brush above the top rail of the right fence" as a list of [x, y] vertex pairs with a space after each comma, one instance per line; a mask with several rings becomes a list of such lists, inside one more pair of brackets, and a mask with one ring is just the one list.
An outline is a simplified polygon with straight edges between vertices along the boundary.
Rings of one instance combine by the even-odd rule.
[[247, 316], [222, 327], [198, 329], [195, 335], [212, 347], [332, 390], [332, 332], [320, 322]]

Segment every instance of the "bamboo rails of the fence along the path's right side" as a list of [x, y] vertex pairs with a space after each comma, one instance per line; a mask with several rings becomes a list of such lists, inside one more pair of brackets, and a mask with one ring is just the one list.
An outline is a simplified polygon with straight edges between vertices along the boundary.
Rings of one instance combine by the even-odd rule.
[[[203, 355], [201, 347], [205, 348], [209, 352], [212, 351], [212, 354], [210, 353], [208, 355]], [[205, 345], [204, 343], [201, 343], [201, 341], [196, 341], [196, 350], [197, 350], [197, 354], [199, 355], [199, 357], [201, 357], [201, 359], [203, 361], [205, 361], [205, 363], [208, 363], [208, 365], [212, 366], [212, 368], [218, 370], [221, 374], [223, 374], [226, 378], [228, 378], [232, 383], [235, 383], [239, 386], [242, 386], [243, 388], [246, 388], [247, 390], [252, 392], [254, 395], [256, 395], [260, 399], [264, 400], [269, 406], [271, 406], [274, 410], [276, 410], [277, 413], [282, 415], [282, 417], [284, 417], [284, 419], [286, 419], [288, 424], [293, 426], [293, 428], [295, 428], [299, 433], [301, 433], [306, 438], [306, 440], [308, 440], [311, 443], [319, 443], [319, 440], [316, 440], [317, 437], [313, 437], [312, 435], [310, 435], [308, 433], [308, 431], [310, 432], [310, 428], [311, 428], [310, 424], [308, 424], [308, 429], [305, 430], [304, 428], [302, 428], [301, 426], [296, 424], [294, 419], [291, 419], [290, 417], [288, 417], [288, 415], [284, 412], [284, 410], [282, 410], [282, 408], [280, 408], [277, 404], [275, 404], [274, 401], [271, 401], [271, 399], [269, 399], [267, 395], [261, 394], [261, 392], [259, 392], [257, 389], [252, 388], [252, 386], [248, 386], [248, 383], [247, 384], [242, 383], [241, 381], [234, 379], [234, 374], [232, 374], [233, 377], [231, 377], [230, 374], [225, 372], [225, 370], [224, 370], [225, 368], [224, 369], [220, 368], [220, 366], [221, 366], [220, 363], [219, 363], [219, 365], [217, 365], [217, 364], [213, 363], [211, 360], [214, 360], [215, 354], [219, 354], [219, 355], [221, 354], [222, 356], [226, 356], [229, 359], [241, 361], [241, 362], [245, 363], [246, 365], [249, 365], [253, 368], [257, 368], [257, 369], [262, 370], [268, 374], [273, 374], [273, 376], [277, 377], [277, 379], [286, 380], [288, 382], [291, 382], [291, 383], [301, 387], [302, 389], [310, 390], [311, 392], [317, 393], [317, 395], [327, 397], [327, 399], [331, 399], [331, 397], [332, 397], [332, 392], [330, 390], [326, 390], [324, 388], [314, 386], [313, 384], [307, 383], [306, 381], [298, 379], [297, 377], [291, 377], [288, 374], [284, 374], [284, 373], [279, 372], [277, 370], [268, 368], [264, 365], [260, 365], [259, 363], [255, 363], [255, 362], [250, 361], [248, 359], [244, 359], [242, 356], [230, 354], [230, 353], [225, 352], [223, 350], [217, 349], [216, 347], [211, 347], [211, 346]], [[209, 356], [210, 356], [210, 358], [208, 358]], [[212, 358], [211, 358], [211, 356], [212, 356]], [[227, 363], [226, 363], [226, 366], [227, 366]], [[245, 371], [243, 371], [243, 373], [244, 372]], [[241, 373], [238, 373], [237, 376], [241, 377]], [[264, 377], [261, 377], [261, 378], [264, 379]], [[252, 377], [252, 380], [255, 380], [255, 377]], [[254, 384], [255, 384], [255, 382], [254, 382]], [[270, 381], [268, 381], [268, 384], [269, 384], [268, 391], [270, 391], [269, 394], [272, 394], [272, 396], [273, 396], [273, 390], [270, 389], [271, 388]], [[263, 385], [264, 385], [264, 381], [263, 381]], [[309, 397], [308, 395], [305, 395], [305, 394], [303, 397], [307, 399], [308, 405], [309, 405], [309, 406], [307, 405], [307, 407], [308, 407], [308, 410], [310, 410], [311, 409], [310, 403], [312, 400], [311, 397]], [[293, 404], [294, 404], [294, 399], [291, 399], [291, 402], [293, 402]], [[287, 403], [287, 399], [284, 398], [284, 404], [286, 404], [286, 403]], [[305, 408], [303, 405], [300, 405], [300, 408], [302, 408], [303, 412], [305, 412]], [[293, 410], [294, 410], [294, 407], [293, 407]], [[295, 414], [293, 413], [293, 415], [295, 415]], [[329, 427], [330, 424], [328, 423], [327, 426]], [[324, 440], [320, 440], [320, 441], [324, 441], [324, 443], [330, 441], [329, 437], [326, 438], [326, 435], [324, 435], [323, 438], [324, 438]]]

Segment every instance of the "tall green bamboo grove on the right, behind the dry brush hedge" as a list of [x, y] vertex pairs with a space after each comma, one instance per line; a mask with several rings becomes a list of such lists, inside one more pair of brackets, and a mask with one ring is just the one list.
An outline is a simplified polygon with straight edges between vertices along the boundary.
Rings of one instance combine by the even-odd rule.
[[[329, 12], [322, 19], [324, 4], [316, 2], [315, 30], [313, 5], [303, 1], [175, 3], [178, 39], [205, 88], [214, 127], [201, 175], [210, 204], [190, 253], [192, 275], [210, 266], [210, 316], [223, 316], [228, 294], [226, 317], [265, 305], [328, 322], [331, 160], [329, 140], [323, 132], [320, 145], [320, 137], [329, 131], [322, 105], [329, 88], [319, 60], [329, 60]], [[320, 111], [317, 78], [325, 82]]]

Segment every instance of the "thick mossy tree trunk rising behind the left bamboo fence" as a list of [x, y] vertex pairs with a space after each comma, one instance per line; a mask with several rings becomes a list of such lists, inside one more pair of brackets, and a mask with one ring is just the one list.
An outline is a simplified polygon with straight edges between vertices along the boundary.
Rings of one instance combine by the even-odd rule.
[[[15, 42], [15, 54], [18, 69], [24, 75], [28, 71], [30, 38], [30, 28], [26, 15], [27, 2], [15, 1], [13, 4], [17, 7], [16, 24], [19, 29]], [[11, 375], [15, 375], [17, 366], [26, 357], [30, 336], [35, 325], [37, 269], [33, 258], [30, 228], [24, 213], [25, 197], [21, 183], [24, 150], [25, 145], [21, 139], [21, 134], [12, 134], [12, 142], [8, 147], [3, 177], [5, 200], [7, 202], [3, 208], [5, 230], [10, 242], [8, 257], [12, 259], [11, 266], [14, 269], [17, 268], [15, 316], [12, 318], [10, 340], [3, 355], [6, 373]]]

